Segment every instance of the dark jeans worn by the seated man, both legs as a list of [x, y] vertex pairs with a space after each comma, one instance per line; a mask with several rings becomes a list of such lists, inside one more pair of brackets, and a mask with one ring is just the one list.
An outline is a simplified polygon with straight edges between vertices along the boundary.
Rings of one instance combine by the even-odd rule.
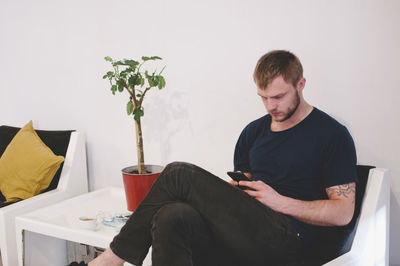
[[110, 244], [141, 265], [284, 265], [302, 241], [277, 213], [195, 165], [169, 164]]

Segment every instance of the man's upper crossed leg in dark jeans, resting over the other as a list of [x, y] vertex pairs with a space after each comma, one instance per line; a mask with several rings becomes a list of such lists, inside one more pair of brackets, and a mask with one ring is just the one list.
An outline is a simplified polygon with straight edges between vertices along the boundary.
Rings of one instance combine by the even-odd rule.
[[151, 221], [170, 203], [185, 202], [204, 219], [228, 254], [248, 265], [281, 261], [300, 245], [289, 219], [243, 191], [188, 163], [169, 164], [110, 247], [140, 265], [152, 244]]

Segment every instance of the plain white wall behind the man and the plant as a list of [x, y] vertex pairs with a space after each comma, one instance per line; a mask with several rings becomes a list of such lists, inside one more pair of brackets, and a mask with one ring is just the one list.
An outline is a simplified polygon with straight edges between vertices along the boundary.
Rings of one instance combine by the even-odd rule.
[[136, 160], [127, 96], [104, 56], [159, 55], [167, 88], [145, 104], [147, 163], [225, 176], [241, 129], [265, 111], [252, 71], [271, 49], [305, 68], [305, 97], [350, 129], [359, 163], [392, 171], [391, 263], [400, 265], [400, 1], [0, 0], [0, 124], [87, 134], [91, 189]]

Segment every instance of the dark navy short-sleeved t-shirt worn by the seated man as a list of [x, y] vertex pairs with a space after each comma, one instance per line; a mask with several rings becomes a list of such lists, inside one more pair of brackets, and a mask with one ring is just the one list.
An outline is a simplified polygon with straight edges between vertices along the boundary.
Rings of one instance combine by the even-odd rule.
[[[278, 193], [299, 200], [327, 199], [325, 189], [357, 181], [353, 139], [343, 125], [314, 107], [294, 127], [271, 131], [271, 116], [246, 126], [235, 148], [235, 171], [250, 172]], [[317, 227], [290, 219], [305, 242]]]

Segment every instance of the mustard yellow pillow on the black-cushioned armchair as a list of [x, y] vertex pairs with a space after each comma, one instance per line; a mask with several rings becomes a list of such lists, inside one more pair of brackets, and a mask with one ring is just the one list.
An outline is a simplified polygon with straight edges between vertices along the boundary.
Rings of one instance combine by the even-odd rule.
[[35, 196], [49, 186], [63, 161], [43, 143], [30, 121], [0, 158], [0, 191], [7, 202]]

